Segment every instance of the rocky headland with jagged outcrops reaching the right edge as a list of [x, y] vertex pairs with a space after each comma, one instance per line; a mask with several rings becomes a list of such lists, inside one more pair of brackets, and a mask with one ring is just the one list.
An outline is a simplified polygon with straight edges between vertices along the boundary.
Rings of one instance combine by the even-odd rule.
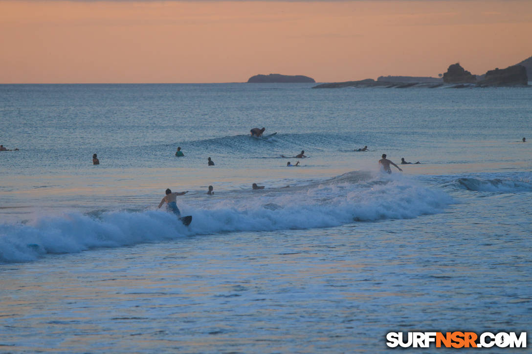
[[474, 75], [462, 68], [460, 63], [449, 65], [441, 78], [411, 77], [411, 76], [380, 76], [377, 81], [365, 79], [359, 81], [344, 81], [322, 83], [313, 88], [342, 88], [342, 87], [530, 87], [529, 78], [532, 79], [532, 56], [519, 64], [508, 66], [506, 69], [488, 70], [483, 75]]

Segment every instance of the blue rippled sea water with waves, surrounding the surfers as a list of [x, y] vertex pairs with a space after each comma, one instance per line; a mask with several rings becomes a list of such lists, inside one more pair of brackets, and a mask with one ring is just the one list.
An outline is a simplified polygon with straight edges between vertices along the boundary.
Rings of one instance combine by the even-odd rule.
[[532, 90], [311, 87], [0, 85], [0, 351], [530, 331]]

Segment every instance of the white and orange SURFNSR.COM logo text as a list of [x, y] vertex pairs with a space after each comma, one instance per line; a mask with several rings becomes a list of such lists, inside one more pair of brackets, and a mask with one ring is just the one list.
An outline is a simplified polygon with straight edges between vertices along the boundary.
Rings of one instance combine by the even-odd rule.
[[389, 332], [386, 340], [390, 348], [429, 348], [432, 343], [436, 348], [526, 348], [527, 332]]

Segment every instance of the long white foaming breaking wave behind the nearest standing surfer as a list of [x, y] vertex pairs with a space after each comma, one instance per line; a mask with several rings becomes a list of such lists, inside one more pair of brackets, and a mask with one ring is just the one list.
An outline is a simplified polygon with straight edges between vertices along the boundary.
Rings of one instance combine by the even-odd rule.
[[340, 178], [296, 189], [180, 204], [189, 227], [162, 210], [115, 210], [98, 217], [72, 212], [39, 216], [27, 224], [0, 224], [0, 262], [24, 262], [48, 253], [177, 239], [224, 231], [309, 229], [442, 212], [452, 199], [404, 176]]

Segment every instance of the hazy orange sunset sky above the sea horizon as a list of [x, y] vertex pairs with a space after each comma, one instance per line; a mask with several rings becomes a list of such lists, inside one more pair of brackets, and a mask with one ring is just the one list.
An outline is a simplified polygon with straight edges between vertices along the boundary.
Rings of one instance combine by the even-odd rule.
[[530, 0], [0, 0], [0, 83], [317, 82], [532, 56]]

